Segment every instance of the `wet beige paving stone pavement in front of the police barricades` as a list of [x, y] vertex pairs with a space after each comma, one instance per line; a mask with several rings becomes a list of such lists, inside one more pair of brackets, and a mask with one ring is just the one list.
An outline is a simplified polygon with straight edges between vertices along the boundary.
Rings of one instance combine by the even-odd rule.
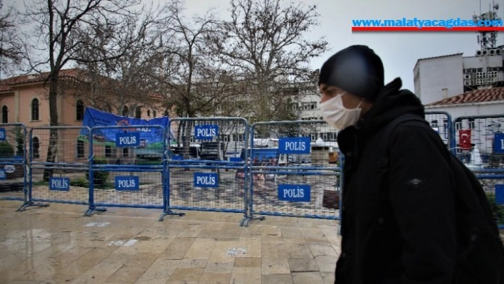
[[0, 201], [0, 283], [334, 283], [340, 253], [335, 220], [20, 205]]

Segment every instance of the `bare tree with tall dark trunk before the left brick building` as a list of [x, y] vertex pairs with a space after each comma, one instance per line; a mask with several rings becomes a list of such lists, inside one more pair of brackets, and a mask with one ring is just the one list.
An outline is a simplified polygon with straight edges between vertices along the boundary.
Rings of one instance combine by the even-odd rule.
[[[31, 33], [26, 35], [24, 59], [28, 63], [28, 72], [48, 65], [48, 101], [50, 125], [58, 125], [57, 98], [59, 74], [61, 69], [73, 62], [98, 62], [121, 57], [137, 38], [117, 33], [122, 23], [132, 22], [137, 16], [135, 6], [141, 0], [35, 0], [26, 6], [26, 19], [35, 24]], [[110, 36], [107, 46], [93, 45], [81, 41], [79, 31], [95, 29]], [[126, 43], [126, 44], [122, 44]], [[82, 58], [78, 51], [91, 48], [98, 58]], [[57, 155], [58, 131], [51, 130], [47, 162], [55, 162]], [[44, 171], [44, 179], [53, 174], [51, 169]]]

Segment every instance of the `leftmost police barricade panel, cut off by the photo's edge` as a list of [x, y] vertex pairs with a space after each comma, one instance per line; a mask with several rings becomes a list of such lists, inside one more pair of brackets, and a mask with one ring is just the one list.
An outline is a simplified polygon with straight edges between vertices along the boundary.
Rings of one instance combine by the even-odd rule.
[[26, 201], [26, 126], [0, 124], [0, 199]]

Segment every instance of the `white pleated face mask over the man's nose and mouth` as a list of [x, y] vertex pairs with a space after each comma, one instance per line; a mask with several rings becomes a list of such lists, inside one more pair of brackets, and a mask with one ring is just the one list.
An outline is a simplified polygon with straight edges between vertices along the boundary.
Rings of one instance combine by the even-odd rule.
[[326, 100], [320, 104], [320, 110], [322, 111], [322, 117], [324, 117], [325, 122], [335, 127], [337, 130], [344, 130], [349, 126], [355, 125], [357, 121], [359, 121], [360, 111], [362, 110], [359, 108], [362, 100], [355, 109], [347, 109], [343, 105], [343, 100], [341, 98], [345, 93], [336, 95], [335, 98]]

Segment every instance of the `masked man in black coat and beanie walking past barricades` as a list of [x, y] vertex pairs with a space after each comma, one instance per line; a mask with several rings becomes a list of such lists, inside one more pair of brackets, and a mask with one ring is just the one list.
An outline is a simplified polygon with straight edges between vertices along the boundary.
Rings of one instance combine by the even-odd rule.
[[319, 87], [320, 110], [340, 130], [337, 142], [345, 157], [342, 252], [335, 283], [499, 283], [500, 264], [486, 266], [488, 279], [474, 273], [478, 280], [471, 280], [463, 274], [478, 265], [471, 259], [461, 264], [470, 247], [466, 240], [487, 244], [486, 251], [476, 250], [483, 256], [471, 254], [473, 261], [483, 259], [479, 264], [503, 263], [504, 247], [495, 241], [498, 230], [491, 220], [482, 229], [488, 228], [490, 241], [467, 233], [473, 228], [467, 220], [485, 223], [489, 207], [483, 198], [476, 201], [467, 193], [473, 210], [461, 208], [454, 180], [466, 181], [467, 173], [453, 169], [434, 130], [398, 125], [389, 137], [385, 181], [379, 172], [379, 144], [387, 125], [401, 115], [424, 120], [419, 98], [401, 90], [399, 78], [384, 85], [382, 61], [367, 46], [350, 46], [331, 56], [320, 69]]

